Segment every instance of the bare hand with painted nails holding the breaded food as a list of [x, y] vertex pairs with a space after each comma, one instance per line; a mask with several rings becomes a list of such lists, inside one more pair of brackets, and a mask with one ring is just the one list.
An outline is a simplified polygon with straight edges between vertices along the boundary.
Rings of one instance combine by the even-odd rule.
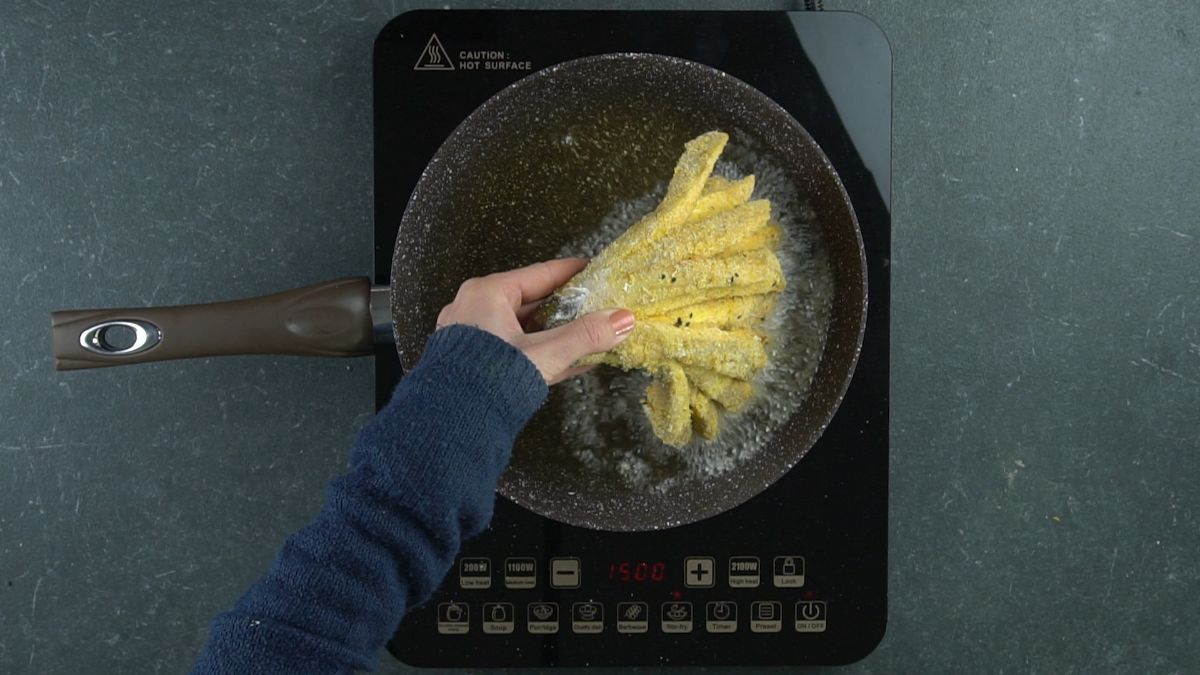
[[438, 328], [462, 323], [486, 330], [521, 350], [547, 384], [557, 384], [592, 368], [571, 368], [571, 364], [588, 354], [607, 352], [634, 330], [634, 312], [614, 309], [592, 312], [550, 330], [524, 331], [524, 323], [538, 304], [584, 267], [584, 259], [563, 258], [468, 279], [458, 287], [454, 301], [442, 309]]

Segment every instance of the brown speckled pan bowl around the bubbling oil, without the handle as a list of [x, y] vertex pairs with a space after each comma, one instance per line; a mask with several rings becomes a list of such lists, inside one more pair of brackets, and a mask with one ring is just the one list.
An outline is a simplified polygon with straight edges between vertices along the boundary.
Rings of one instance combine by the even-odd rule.
[[666, 494], [596, 480], [565, 453], [564, 411], [529, 424], [500, 492], [539, 514], [598, 530], [694, 522], [757, 495], [790, 471], [828, 424], [853, 372], [866, 309], [853, 209], [812, 138], [760, 91], [708, 66], [654, 54], [568, 61], [502, 90], [430, 162], [404, 213], [392, 258], [392, 312], [410, 368], [458, 285], [552, 258], [617, 202], [670, 177], [683, 143], [739, 131], [799, 186], [829, 255], [833, 309], [821, 364], [800, 410], [737, 470]]

